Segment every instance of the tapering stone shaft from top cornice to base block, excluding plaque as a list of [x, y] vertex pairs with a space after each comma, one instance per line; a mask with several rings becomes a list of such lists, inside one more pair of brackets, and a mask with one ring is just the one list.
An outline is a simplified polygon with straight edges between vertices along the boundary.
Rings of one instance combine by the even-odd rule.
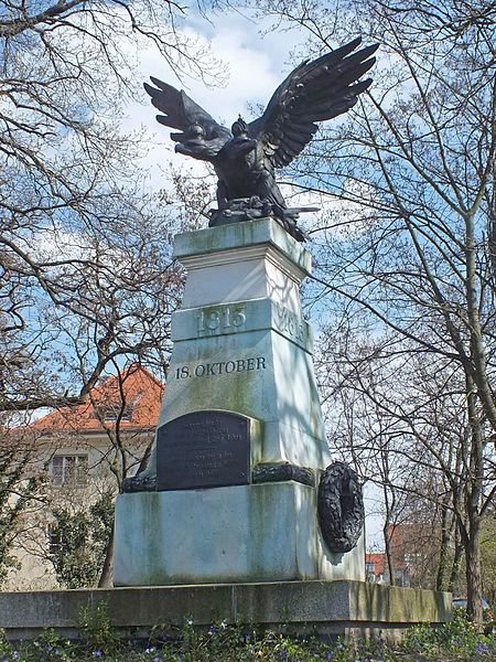
[[[159, 427], [193, 412], [231, 412], [261, 426], [252, 466], [326, 467], [299, 295], [310, 254], [271, 218], [177, 235], [174, 252], [187, 279]], [[155, 450], [145, 473], [157, 473]]]

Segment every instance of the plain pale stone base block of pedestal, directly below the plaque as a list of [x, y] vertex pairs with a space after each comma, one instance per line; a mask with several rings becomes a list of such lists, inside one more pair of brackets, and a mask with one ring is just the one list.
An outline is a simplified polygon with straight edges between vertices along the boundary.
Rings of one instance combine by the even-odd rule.
[[295, 482], [120, 494], [116, 586], [365, 578], [364, 543], [331, 553], [316, 490]]

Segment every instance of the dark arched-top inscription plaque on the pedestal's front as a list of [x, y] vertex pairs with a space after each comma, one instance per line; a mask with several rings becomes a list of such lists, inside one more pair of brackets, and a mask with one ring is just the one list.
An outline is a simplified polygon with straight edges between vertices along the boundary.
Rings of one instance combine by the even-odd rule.
[[245, 485], [250, 477], [249, 419], [195, 412], [161, 426], [157, 435], [157, 489]]

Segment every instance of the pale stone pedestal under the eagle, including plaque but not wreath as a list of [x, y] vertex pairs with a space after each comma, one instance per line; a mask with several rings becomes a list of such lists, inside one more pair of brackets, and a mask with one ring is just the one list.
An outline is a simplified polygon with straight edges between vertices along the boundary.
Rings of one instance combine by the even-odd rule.
[[115, 584], [364, 579], [363, 536], [331, 553], [317, 524], [331, 458], [299, 295], [310, 254], [261, 218], [179, 235], [174, 256], [187, 279], [158, 481], [118, 498]]

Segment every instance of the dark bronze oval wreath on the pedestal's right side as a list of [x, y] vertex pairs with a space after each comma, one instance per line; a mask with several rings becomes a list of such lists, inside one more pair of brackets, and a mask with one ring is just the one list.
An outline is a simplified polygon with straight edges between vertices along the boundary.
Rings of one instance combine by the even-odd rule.
[[322, 473], [317, 496], [319, 524], [332, 552], [349, 552], [364, 527], [362, 487], [345, 462], [333, 462]]

